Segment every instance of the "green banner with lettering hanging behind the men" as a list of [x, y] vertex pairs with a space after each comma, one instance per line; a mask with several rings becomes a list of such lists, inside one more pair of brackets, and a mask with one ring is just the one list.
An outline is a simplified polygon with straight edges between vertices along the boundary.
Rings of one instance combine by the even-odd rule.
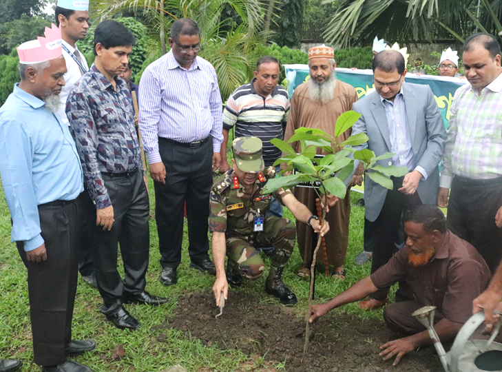
[[[308, 74], [308, 65], [284, 65], [284, 68], [286, 70], [286, 79], [288, 80], [288, 92], [291, 97], [293, 96], [295, 87], [310, 78], [310, 75]], [[337, 79], [355, 87], [359, 99], [362, 99], [362, 97], [366, 95], [366, 92], [374, 87], [372, 70], [337, 68], [335, 69], [335, 72], [337, 74]], [[425, 84], [430, 86], [432, 93], [434, 93], [439, 111], [441, 111], [441, 115], [443, 115], [445, 127], [447, 127], [448, 120], [450, 120], [450, 107], [452, 105], [455, 91], [462, 85], [468, 83], [467, 79], [432, 75], [415, 75], [410, 73], [406, 74], [405, 78], [408, 83]]]

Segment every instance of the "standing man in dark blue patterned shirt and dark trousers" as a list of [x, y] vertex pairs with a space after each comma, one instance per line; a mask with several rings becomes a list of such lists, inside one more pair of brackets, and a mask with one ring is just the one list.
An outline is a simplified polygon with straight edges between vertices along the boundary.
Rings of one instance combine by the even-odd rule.
[[[134, 42], [121, 23], [101, 22], [94, 34], [94, 65], [74, 85], [66, 105], [90, 196], [86, 216], [96, 282], [103, 297], [101, 312], [120, 329], [140, 327], [123, 303], [167, 302], [145, 291], [149, 200], [131, 94], [118, 77], [129, 63]], [[124, 280], [116, 268], [118, 242]]]

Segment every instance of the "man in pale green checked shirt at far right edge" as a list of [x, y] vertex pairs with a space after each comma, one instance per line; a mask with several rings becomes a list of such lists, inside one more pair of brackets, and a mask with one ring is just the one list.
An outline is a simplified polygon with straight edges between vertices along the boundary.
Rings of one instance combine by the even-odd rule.
[[453, 97], [437, 204], [448, 205], [448, 228], [474, 245], [494, 273], [502, 258], [499, 41], [491, 34], [468, 37], [462, 60], [470, 84]]

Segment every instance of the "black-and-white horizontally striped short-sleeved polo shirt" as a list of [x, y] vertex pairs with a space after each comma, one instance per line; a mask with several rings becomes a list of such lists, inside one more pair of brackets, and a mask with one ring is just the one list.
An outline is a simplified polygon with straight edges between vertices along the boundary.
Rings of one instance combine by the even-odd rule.
[[238, 87], [223, 110], [223, 127], [236, 126], [236, 137], [256, 136], [263, 142], [263, 160], [266, 167], [280, 158], [281, 151], [270, 143], [272, 138], [284, 138], [282, 125], [289, 114], [289, 95], [284, 87], [276, 85], [266, 98], [260, 96], [251, 83]]

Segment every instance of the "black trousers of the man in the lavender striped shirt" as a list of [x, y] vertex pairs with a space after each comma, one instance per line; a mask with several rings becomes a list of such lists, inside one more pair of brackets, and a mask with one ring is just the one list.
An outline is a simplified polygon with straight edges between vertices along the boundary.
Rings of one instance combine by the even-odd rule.
[[155, 185], [155, 216], [160, 249], [160, 265], [176, 269], [181, 262], [183, 205], [187, 203], [188, 252], [192, 261], [209, 259], [209, 192], [213, 141], [190, 148], [166, 138], [158, 138], [165, 166], [165, 184]]

